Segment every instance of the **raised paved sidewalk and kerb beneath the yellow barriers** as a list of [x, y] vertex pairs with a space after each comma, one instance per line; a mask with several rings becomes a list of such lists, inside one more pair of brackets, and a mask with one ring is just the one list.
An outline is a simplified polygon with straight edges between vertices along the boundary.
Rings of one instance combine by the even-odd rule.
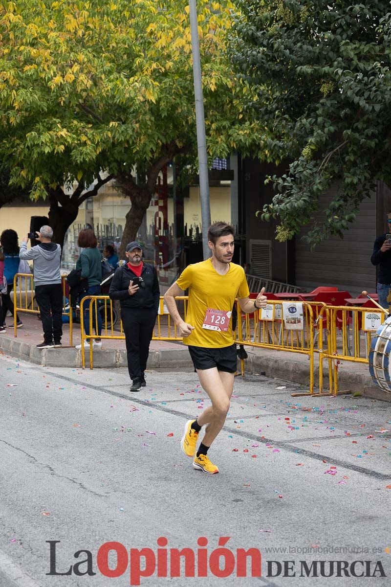
[[[37, 349], [42, 342], [42, 325], [36, 315], [22, 314], [23, 328], [13, 336], [13, 329], [0, 334], [0, 353], [20, 357], [46, 367], [81, 367], [81, 351], [69, 346], [69, 325], [64, 325], [63, 348]], [[11, 325], [11, 318], [7, 318]], [[80, 343], [80, 325], [73, 327], [73, 345]], [[248, 359], [245, 361], [247, 373], [266, 375], [300, 383], [303, 392], [310, 383], [309, 360], [306, 355], [270, 349], [254, 349], [246, 346]], [[89, 353], [86, 353], [86, 366], [89, 366]], [[126, 367], [124, 340], [103, 340], [102, 349], [94, 349], [94, 367]], [[181, 342], [152, 340], [148, 359], [148, 369], [190, 367], [192, 366], [188, 349]], [[315, 356], [315, 380], [318, 377], [318, 357]], [[238, 369], [240, 365], [238, 363]], [[328, 365], [324, 362], [324, 391], [328, 390]], [[361, 393], [363, 396], [391, 402], [391, 393], [383, 392], [373, 384], [368, 365], [343, 362], [339, 365], [339, 390]], [[316, 387], [315, 387], [316, 391]]]

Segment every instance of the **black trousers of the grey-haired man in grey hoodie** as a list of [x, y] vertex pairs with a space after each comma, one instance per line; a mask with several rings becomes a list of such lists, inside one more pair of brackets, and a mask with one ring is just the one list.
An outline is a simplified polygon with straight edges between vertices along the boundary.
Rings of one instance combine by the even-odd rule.
[[42, 319], [46, 343], [60, 342], [63, 334], [63, 288], [61, 284], [35, 286], [35, 299]]

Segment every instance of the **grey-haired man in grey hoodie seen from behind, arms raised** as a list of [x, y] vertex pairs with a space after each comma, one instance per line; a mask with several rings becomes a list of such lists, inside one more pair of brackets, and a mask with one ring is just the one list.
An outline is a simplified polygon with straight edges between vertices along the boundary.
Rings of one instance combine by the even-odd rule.
[[36, 233], [39, 245], [27, 250], [28, 237], [23, 238], [19, 258], [34, 262], [35, 299], [42, 318], [44, 341], [39, 349], [61, 346], [63, 290], [61, 285], [60, 259], [61, 247], [52, 242], [53, 230], [43, 226]]

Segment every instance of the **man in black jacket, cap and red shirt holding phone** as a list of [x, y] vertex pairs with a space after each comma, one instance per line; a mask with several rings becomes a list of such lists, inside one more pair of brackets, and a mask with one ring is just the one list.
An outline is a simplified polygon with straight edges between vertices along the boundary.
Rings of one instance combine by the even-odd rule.
[[[138, 242], [126, 247], [126, 265], [115, 269], [108, 295], [119, 299], [124, 327], [128, 370], [132, 379], [131, 392], [145, 387], [145, 367], [149, 354], [156, 316], [159, 308], [159, 282], [153, 265], [142, 262], [142, 248]], [[140, 284], [140, 285], [139, 285]]]

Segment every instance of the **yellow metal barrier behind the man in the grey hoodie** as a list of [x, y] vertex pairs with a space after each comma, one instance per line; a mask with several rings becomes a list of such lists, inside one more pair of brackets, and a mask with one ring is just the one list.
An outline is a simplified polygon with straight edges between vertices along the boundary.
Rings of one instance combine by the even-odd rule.
[[[66, 277], [66, 275], [61, 276], [61, 284], [63, 288], [63, 315], [69, 316], [69, 344], [72, 346], [73, 315], [70, 303], [69, 310], [66, 310]], [[17, 273], [13, 278], [13, 336], [15, 336], [15, 338], [18, 336], [18, 330], [16, 328], [16, 314], [18, 312], [39, 314], [39, 307], [35, 302], [34, 276], [31, 273]]]

